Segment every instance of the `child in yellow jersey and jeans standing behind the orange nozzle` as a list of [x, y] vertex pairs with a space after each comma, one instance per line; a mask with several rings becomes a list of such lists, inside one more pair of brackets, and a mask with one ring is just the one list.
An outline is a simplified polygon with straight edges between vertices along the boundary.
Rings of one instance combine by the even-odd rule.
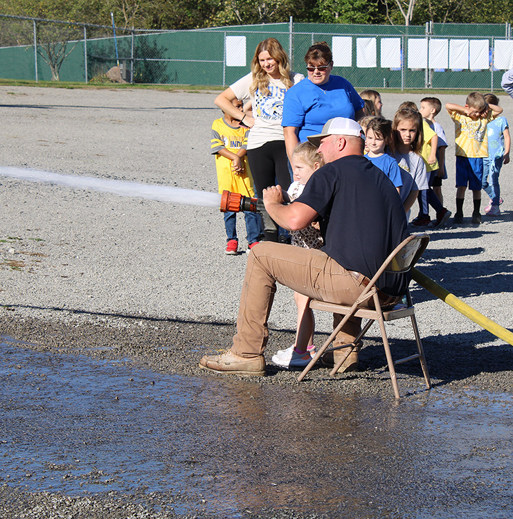
[[[242, 118], [242, 101], [235, 99], [232, 104], [240, 110]], [[253, 178], [246, 159], [249, 130], [241, 127], [239, 122], [240, 120], [223, 112], [223, 117], [212, 123], [210, 149], [212, 154], [215, 154], [219, 193], [228, 190], [232, 193], [240, 193], [244, 197], [254, 197]], [[237, 239], [236, 218], [236, 212], [227, 211], [224, 213], [225, 254], [229, 255], [238, 254], [239, 240]], [[248, 247], [252, 248], [258, 244], [260, 236], [260, 215], [255, 212], [244, 211], [244, 220], [246, 221]]]

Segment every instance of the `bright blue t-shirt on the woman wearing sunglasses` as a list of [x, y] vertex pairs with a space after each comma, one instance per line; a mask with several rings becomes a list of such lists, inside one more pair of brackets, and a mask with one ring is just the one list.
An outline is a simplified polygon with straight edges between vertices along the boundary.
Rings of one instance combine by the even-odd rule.
[[306, 79], [285, 93], [282, 126], [299, 128], [298, 138], [303, 143], [309, 135], [320, 134], [328, 119], [354, 119], [364, 104], [354, 86], [339, 75], [330, 75], [323, 85]]

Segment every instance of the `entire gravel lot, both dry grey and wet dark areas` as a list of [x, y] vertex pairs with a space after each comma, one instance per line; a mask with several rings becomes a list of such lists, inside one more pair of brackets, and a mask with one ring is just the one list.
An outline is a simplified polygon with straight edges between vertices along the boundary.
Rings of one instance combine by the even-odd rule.
[[[384, 112], [421, 97], [386, 94]], [[1, 86], [0, 166], [215, 192], [213, 98]], [[513, 120], [513, 100], [501, 104]], [[501, 217], [429, 230], [419, 268], [511, 330], [510, 168]], [[246, 262], [223, 254], [215, 209], [0, 185], [0, 516], [508, 517], [511, 345], [413, 284], [429, 392], [404, 364], [394, 401], [372, 329], [360, 371], [336, 379], [320, 368], [298, 384], [271, 364], [258, 381], [206, 374], [199, 358], [233, 336]], [[317, 317], [321, 344], [330, 319]], [[268, 361], [294, 324], [280, 289]], [[389, 331], [397, 355], [411, 352], [406, 323]], [[98, 409], [75, 414], [84, 388]], [[75, 438], [89, 444], [80, 462]]]

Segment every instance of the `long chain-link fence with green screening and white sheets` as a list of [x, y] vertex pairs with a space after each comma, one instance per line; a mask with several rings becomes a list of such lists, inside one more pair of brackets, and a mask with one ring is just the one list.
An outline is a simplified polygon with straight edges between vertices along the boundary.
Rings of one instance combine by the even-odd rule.
[[513, 67], [510, 24], [356, 26], [286, 24], [147, 31], [0, 15], [0, 77], [122, 80], [224, 86], [249, 71], [254, 49], [276, 37], [293, 69], [314, 42], [334, 54], [334, 74], [358, 89], [500, 89]]

